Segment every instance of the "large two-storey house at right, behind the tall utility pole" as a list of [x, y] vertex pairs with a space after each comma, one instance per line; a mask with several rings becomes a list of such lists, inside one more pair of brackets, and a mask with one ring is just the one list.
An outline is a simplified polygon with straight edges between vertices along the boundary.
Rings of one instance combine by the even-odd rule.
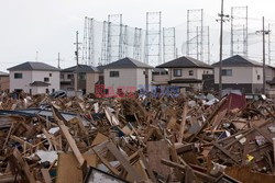
[[[215, 85], [219, 88], [220, 61], [215, 68]], [[274, 68], [266, 66], [266, 82], [274, 79]], [[272, 88], [272, 83], [267, 85]], [[239, 90], [242, 93], [261, 93], [263, 91], [263, 64], [234, 55], [222, 60], [222, 89]]]

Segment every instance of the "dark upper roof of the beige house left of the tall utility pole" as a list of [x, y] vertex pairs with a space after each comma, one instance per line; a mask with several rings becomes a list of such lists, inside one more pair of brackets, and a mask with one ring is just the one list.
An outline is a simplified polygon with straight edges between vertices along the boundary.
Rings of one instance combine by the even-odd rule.
[[212, 67], [208, 64], [199, 61], [191, 57], [179, 57], [163, 65], [156, 66], [156, 68], [209, 68]]

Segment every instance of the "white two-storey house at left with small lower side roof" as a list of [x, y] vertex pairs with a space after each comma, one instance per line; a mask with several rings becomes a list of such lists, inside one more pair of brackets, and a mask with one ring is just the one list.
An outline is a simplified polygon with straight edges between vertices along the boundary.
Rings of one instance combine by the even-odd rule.
[[59, 90], [59, 69], [44, 62], [23, 62], [8, 69], [10, 91], [30, 94], [50, 93]]

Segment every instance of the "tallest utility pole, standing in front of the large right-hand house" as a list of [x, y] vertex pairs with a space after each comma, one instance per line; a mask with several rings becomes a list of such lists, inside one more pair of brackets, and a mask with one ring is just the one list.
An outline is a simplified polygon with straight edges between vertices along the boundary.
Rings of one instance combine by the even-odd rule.
[[[222, 95], [222, 36], [223, 36], [223, 22], [229, 21], [229, 14], [223, 14], [223, 0], [221, 0], [221, 13], [218, 14], [220, 16], [217, 22], [220, 21], [220, 68], [219, 68], [219, 99]], [[227, 18], [227, 19], [224, 19]]]

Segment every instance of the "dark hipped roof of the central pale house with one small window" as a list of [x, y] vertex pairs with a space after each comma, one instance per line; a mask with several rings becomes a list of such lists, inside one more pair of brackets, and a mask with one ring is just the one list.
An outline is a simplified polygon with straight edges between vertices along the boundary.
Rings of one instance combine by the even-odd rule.
[[148, 68], [148, 69], [153, 69], [153, 67], [151, 67], [144, 62], [138, 61], [133, 58], [129, 58], [129, 57], [125, 57], [125, 58], [119, 59], [118, 61], [106, 65], [106, 66], [103, 66], [103, 68], [105, 69], [109, 69], [109, 68], [122, 68], [122, 69], [123, 68]]

